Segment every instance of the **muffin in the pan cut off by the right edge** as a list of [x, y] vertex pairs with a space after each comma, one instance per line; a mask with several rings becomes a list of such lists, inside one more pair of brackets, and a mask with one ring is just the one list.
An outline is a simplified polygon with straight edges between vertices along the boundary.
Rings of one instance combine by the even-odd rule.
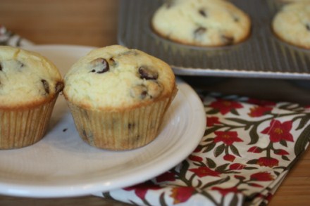
[[310, 1], [283, 6], [273, 18], [272, 28], [282, 41], [310, 49]]

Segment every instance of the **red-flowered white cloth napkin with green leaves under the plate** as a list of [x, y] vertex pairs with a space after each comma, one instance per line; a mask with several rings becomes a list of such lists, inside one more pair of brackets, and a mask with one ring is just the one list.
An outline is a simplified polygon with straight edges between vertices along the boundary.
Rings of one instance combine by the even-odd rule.
[[[0, 45], [33, 44], [0, 25]], [[132, 205], [266, 205], [309, 146], [310, 107], [197, 94], [206, 129], [192, 154], [142, 184], [95, 193]]]

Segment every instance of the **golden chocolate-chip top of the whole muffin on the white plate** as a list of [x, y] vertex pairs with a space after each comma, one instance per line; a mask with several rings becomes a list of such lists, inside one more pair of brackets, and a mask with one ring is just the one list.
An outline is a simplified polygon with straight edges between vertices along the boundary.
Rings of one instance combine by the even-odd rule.
[[124, 110], [171, 95], [171, 67], [147, 53], [113, 45], [90, 51], [64, 78], [65, 98], [88, 109]]

